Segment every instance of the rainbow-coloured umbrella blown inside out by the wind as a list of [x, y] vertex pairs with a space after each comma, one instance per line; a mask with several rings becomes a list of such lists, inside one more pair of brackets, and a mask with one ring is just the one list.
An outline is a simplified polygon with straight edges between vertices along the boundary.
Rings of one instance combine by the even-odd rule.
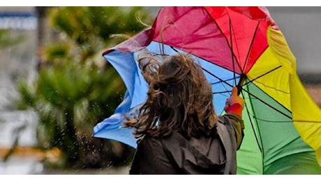
[[295, 57], [262, 7], [165, 7], [151, 27], [103, 56], [127, 88], [114, 115], [94, 136], [136, 147], [132, 129], [120, 128], [147, 95], [137, 56], [191, 54], [212, 84], [214, 107], [238, 86], [246, 101], [245, 137], [237, 151], [238, 174], [321, 174], [321, 111], [297, 75]]

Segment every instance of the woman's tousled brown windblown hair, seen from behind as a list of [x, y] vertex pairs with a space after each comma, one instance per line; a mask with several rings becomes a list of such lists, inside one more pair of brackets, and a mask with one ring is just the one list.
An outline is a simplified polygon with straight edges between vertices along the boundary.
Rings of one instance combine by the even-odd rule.
[[167, 56], [156, 74], [143, 74], [149, 82], [147, 101], [137, 119], [127, 120], [135, 135], [168, 136], [179, 132], [187, 139], [213, 130], [217, 115], [211, 85], [191, 56]]

